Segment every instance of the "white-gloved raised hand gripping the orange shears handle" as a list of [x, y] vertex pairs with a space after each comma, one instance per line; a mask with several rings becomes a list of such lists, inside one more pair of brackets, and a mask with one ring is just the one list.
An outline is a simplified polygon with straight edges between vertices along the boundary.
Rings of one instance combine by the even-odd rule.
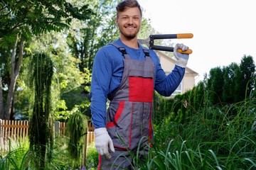
[[186, 51], [188, 50], [188, 47], [186, 45], [178, 44], [178, 43], [174, 47], [174, 56], [177, 59], [176, 65], [178, 65], [179, 67], [185, 68], [186, 64], [188, 63], [189, 55], [179, 53], [178, 49], [181, 49], [182, 51]]

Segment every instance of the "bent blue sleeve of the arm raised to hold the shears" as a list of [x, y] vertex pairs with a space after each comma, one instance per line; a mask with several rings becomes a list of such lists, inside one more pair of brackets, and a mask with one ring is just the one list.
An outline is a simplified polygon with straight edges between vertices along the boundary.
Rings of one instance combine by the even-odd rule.
[[185, 74], [185, 68], [175, 65], [170, 74], [166, 76], [166, 73], [161, 68], [160, 62], [156, 65], [156, 84], [155, 90], [162, 96], [171, 96], [181, 84], [183, 76]]

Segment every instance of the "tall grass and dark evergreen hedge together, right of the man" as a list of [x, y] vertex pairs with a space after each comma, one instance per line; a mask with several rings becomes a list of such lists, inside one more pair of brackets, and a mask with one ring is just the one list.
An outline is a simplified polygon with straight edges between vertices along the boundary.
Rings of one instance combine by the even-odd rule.
[[[209, 77], [206, 75], [205, 80], [199, 82], [191, 91], [176, 95], [174, 99], [166, 99], [156, 94], [155, 149], [162, 151], [171, 146], [170, 149], [173, 150], [176, 147], [169, 145], [169, 142], [176, 141], [178, 146], [182, 146], [186, 140], [189, 151], [186, 156], [191, 155], [193, 164], [186, 157], [185, 163], [181, 160], [180, 164], [186, 166], [184, 169], [254, 169], [255, 81], [252, 57], [244, 56], [240, 65], [232, 63], [223, 69], [211, 69]], [[235, 97], [238, 89], [243, 92]], [[181, 153], [181, 150], [174, 152], [171, 154], [173, 157], [169, 158], [176, 160], [175, 156]], [[166, 160], [161, 158], [163, 159]], [[161, 165], [160, 162], [157, 164]], [[166, 164], [165, 162], [162, 165], [164, 169]], [[181, 166], [172, 168], [180, 169]]]

